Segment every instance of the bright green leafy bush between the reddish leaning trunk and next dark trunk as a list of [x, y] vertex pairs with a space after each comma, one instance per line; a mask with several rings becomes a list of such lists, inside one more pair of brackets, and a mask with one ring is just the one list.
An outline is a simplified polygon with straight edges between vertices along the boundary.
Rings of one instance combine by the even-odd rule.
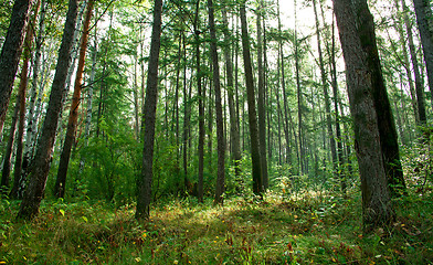
[[105, 120], [101, 127], [105, 136], [92, 139], [81, 151], [86, 167], [76, 180], [83, 181], [84, 194], [124, 205], [135, 198], [140, 150], [128, 128]]

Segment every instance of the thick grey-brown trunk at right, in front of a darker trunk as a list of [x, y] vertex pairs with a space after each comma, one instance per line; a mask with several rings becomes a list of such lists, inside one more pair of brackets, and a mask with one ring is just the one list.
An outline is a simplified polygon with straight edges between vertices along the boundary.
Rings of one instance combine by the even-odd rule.
[[350, 112], [361, 177], [362, 213], [366, 231], [393, 220], [380, 146], [378, 116], [374, 112], [372, 76], [357, 34], [356, 14], [350, 0], [334, 0], [334, 12], [347, 68]]

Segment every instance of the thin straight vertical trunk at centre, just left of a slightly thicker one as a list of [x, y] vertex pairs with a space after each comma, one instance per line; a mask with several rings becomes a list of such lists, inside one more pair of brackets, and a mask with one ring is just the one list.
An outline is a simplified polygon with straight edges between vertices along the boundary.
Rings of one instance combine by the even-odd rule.
[[196, 67], [197, 67], [197, 91], [199, 97], [199, 183], [198, 198], [199, 202], [203, 202], [203, 170], [204, 170], [204, 93], [201, 85], [201, 62], [200, 62], [200, 0], [197, 0], [196, 19], [194, 19], [194, 38], [196, 38]]

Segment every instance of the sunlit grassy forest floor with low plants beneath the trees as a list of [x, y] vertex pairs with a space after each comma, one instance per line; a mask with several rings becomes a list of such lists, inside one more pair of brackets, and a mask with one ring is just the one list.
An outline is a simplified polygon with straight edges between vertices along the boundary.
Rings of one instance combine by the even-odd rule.
[[32, 222], [0, 204], [0, 264], [433, 264], [433, 195], [394, 201], [398, 219], [363, 234], [359, 193], [263, 201], [158, 203], [138, 223], [135, 205], [45, 200]]

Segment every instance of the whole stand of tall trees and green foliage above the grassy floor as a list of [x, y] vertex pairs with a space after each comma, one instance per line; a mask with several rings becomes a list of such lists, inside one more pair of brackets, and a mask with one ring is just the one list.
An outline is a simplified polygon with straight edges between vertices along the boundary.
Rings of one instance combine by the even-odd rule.
[[302, 181], [360, 186], [369, 230], [406, 193], [399, 148], [427, 145], [426, 0], [11, 2], [1, 191], [19, 218], [45, 193], [147, 219], [163, 197], [222, 204]]

